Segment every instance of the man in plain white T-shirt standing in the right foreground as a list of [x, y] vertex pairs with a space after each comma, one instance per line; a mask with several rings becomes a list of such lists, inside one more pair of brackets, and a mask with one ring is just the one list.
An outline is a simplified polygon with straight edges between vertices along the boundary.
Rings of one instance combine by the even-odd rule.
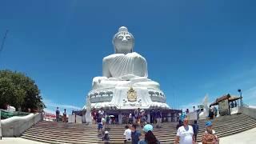
[[195, 144], [193, 127], [188, 124], [188, 118], [184, 118], [183, 126], [178, 128], [175, 144]]

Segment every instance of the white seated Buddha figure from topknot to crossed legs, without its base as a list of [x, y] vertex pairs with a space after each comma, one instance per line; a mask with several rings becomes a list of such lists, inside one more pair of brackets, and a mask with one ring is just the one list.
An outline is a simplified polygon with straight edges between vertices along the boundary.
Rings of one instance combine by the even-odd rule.
[[93, 79], [93, 90], [116, 86], [159, 90], [158, 82], [147, 78], [146, 59], [134, 52], [134, 36], [125, 26], [114, 34], [113, 45], [115, 53], [103, 58], [102, 77]]

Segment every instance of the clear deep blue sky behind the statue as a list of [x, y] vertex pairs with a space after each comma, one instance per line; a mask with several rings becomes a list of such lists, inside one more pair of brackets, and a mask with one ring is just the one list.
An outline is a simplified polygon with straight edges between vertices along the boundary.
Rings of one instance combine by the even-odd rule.
[[[167, 103], [190, 108], [206, 94], [256, 105], [254, 1], [1, 1], [0, 69], [33, 78], [47, 110], [82, 108], [118, 27], [135, 37]], [[2, 42], [2, 39], [1, 39]]]

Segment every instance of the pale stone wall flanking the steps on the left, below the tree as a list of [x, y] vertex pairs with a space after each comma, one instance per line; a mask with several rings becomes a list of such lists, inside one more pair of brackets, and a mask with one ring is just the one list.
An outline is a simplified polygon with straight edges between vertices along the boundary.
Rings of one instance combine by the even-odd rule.
[[14, 116], [1, 120], [3, 137], [18, 137], [25, 130], [42, 120], [42, 114], [29, 114], [26, 116]]

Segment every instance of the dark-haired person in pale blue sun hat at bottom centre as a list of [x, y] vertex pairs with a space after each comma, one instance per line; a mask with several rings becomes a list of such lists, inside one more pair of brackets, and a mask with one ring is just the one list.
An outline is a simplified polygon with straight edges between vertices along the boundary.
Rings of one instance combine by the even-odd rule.
[[157, 138], [155, 138], [153, 134], [153, 126], [150, 124], [146, 124], [143, 127], [143, 132], [145, 133], [145, 138], [142, 138], [138, 144], [159, 144], [160, 142], [158, 141]]

